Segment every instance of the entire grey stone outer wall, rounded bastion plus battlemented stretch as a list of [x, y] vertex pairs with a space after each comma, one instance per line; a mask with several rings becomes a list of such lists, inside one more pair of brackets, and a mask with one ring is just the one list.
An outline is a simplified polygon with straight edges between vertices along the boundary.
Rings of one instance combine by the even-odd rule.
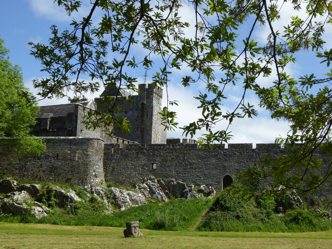
[[[260, 166], [264, 154], [278, 156], [275, 144], [228, 144], [213, 149], [199, 148], [191, 143], [130, 144], [131, 141], [113, 138], [118, 144], [106, 144], [98, 138], [45, 137], [46, 151], [39, 158], [26, 158], [11, 163], [0, 154], [0, 175], [11, 175], [29, 181], [58, 181], [104, 184], [105, 180], [118, 185], [132, 186], [148, 175], [174, 178], [187, 184], [207, 184], [223, 189], [223, 179], [239, 170]], [[325, 165], [331, 162], [324, 152], [317, 152]], [[322, 168], [320, 173], [324, 173]], [[318, 192], [317, 197], [331, 198], [332, 191]]]

